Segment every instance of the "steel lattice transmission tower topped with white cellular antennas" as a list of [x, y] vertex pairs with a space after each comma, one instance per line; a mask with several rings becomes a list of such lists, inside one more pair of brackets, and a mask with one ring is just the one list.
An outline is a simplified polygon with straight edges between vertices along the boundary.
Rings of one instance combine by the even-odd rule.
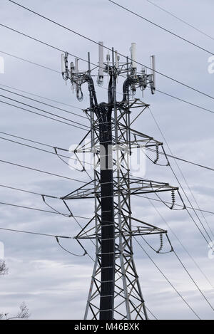
[[[77, 158], [78, 154], [86, 152], [93, 156], [93, 176], [83, 187], [63, 197], [64, 201], [94, 199], [93, 217], [76, 236], [79, 242], [92, 239], [96, 244], [96, 259], [84, 318], [148, 319], [133, 259], [133, 238], [159, 234], [161, 246], [158, 251], [161, 251], [163, 235], [168, 236], [167, 231], [134, 216], [131, 197], [150, 192], [171, 192], [174, 204], [175, 191], [178, 190], [168, 183], [134, 177], [131, 173], [133, 164], [143, 164], [141, 154], [133, 154], [134, 151], [141, 152], [142, 147], [153, 150], [156, 152], [153, 160], [156, 164], [159, 149], [163, 149], [161, 142], [133, 128], [138, 116], [149, 106], [134, 98], [136, 90], [150, 87], [152, 94], [156, 90], [155, 57], [151, 56], [153, 71], [147, 74], [143, 68], [139, 73], [136, 66], [136, 43], [132, 43], [131, 58], [127, 57], [125, 62], [120, 61], [113, 48], [111, 55], [108, 53], [104, 61], [103, 42], [98, 45], [99, 61], [93, 70], [90, 53], [87, 71], [79, 70], [77, 58], [68, 66], [68, 53], [62, 55], [63, 79], [71, 81], [78, 100], [83, 98], [81, 85], [87, 83], [90, 98], [89, 107], [83, 111], [91, 124], [91, 130], [74, 153]], [[92, 74], [96, 69], [98, 86], [103, 84], [104, 77], [108, 77], [106, 103], [98, 103], [93, 83], [95, 75]], [[120, 101], [117, 100], [118, 84], [123, 88]], [[137, 161], [138, 158], [140, 161]], [[86, 169], [84, 162], [81, 165]], [[170, 209], [173, 209], [173, 204]]]

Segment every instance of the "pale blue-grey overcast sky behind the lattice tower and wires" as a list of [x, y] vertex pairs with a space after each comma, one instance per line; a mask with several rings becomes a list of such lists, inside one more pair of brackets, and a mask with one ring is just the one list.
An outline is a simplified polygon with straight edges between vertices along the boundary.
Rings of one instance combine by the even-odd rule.
[[[118, 2], [151, 21], [193, 41], [193, 43], [208, 49], [211, 53], [213, 52], [214, 45], [211, 38], [177, 21], [148, 1], [136, 0], [131, 2], [118, 0]], [[181, 0], [173, 1], [173, 4], [170, 0], [153, 0], [153, 2], [163, 6], [168, 11], [214, 38], [213, 1]], [[113, 46], [125, 55], [129, 56], [131, 42], [136, 42], [139, 62], [149, 66], [150, 56], [155, 54], [158, 71], [198, 90], [202, 90], [208, 95], [214, 95], [214, 76], [208, 73], [208, 58], [210, 54], [190, 46], [184, 41], [180, 41], [155, 26], [151, 26], [148, 22], [123, 11], [123, 9], [116, 7], [107, 0], [20, 0], [19, 3], [39, 11], [39, 13], [92, 38], [94, 41], [104, 41], [106, 46]], [[11, 4], [9, 1], [1, 0], [0, 17], [1, 24], [34, 36], [41, 41], [81, 58], [86, 58], [87, 52], [90, 51], [91, 61], [93, 63], [98, 61], [96, 44], [51, 24]], [[4, 57], [5, 63], [5, 73], [0, 74], [0, 88], [9, 89], [16, 93], [20, 93], [17, 89], [23, 90], [65, 103], [66, 105], [63, 105], [44, 100], [44, 98], [37, 98], [42, 102], [54, 104], [58, 108], [66, 109], [77, 115], [68, 115], [60, 110], [32, 101], [26, 102], [26, 99], [17, 97], [4, 90], [0, 91], [0, 95], [29, 103], [37, 108], [51, 111], [87, 125], [87, 121], [80, 118], [79, 115], [83, 115], [80, 108], [88, 106], [88, 94], [84, 90], [85, 98], [82, 103], [79, 103], [76, 100], [76, 96], [72, 94], [70, 85], [65, 85], [61, 74], [57, 73], [57, 71], [61, 71], [61, 53], [13, 31], [9, 31], [9, 29], [2, 26], [0, 26], [0, 32], [0, 55]], [[13, 56], [6, 55], [6, 53], [46, 66], [54, 71], [21, 61]], [[81, 69], [85, 70], [86, 64], [83, 62], [80, 64]], [[141, 68], [138, 69], [139, 71], [141, 70]], [[4, 85], [11, 88], [6, 88]], [[104, 87], [106, 85], [107, 83], [105, 82]], [[157, 88], [165, 93], [214, 110], [211, 98], [173, 83], [173, 81], [163, 78], [161, 75], [157, 75]], [[118, 87], [118, 93], [120, 93], [121, 89], [122, 87]], [[97, 93], [99, 101], [106, 100], [106, 90], [97, 89]], [[32, 95], [28, 93], [22, 94], [32, 98]], [[120, 95], [118, 95], [119, 97]], [[141, 93], [138, 93], [137, 97], [142, 98]], [[6, 105], [2, 101], [9, 102], [9, 100], [2, 96], [0, 96], [0, 101], [1, 132], [66, 149], [73, 144], [77, 144], [85, 134], [83, 130], [75, 127], [41, 118], [38, 115]], [[179, 102], [161, 93], [151, 95], [150, 90], [146, 90], [143, 101], [151, 104], [153, 115], [155, 115], [158, 125], [161, 127], [174, 155], [213, 167], [212, 113]], [[18, 105], [16, 102], [10, 103]], [[147, 135], [155, 137], [156, 140], [163, 141], [161, 133], [148, 110], [144, 115], [141, 115], [136, 128]], [[0, 134], [0, 137], [11, 139], [8, 135], [3, 134]], [[42, 169], [74, 179], [88, 180], [86, 175], [69, 169], [55, 155], [33, 150], [13, 142], [7, 142], [1, 138], [0, 143], [1, 160]], [[41, 147], [41, 145], [37, 145], [37, 147]], [[169, 152], [167, 147], [165, 150]], [[190, 197], [190, 201], [193, 206], [196, 206], [178, 167], [174, 162], [172, 162], [172, 166], [185, 192]], [[213, 211], [213, 173], [207, 169], [201, 169], [184, 162], [179, 162], [179, 166], [200, 208]], [[4, 162], [0, 162], [0, 168], [1, 185], [28, 189], [32, 192], [61, 197], [81, 185], [79, 182], [69, 179], [42, 174], [8, 165]], [[149, 161], [146, 162], [145, 177], [161, 182], [169, 182], [175, 186], [178, 185], [169, 167], [153, 166]], [[47, 209], [39, 196], [17, 192], [4, 187], [0, 187], [0, 192], [0, 202]], [[52, 200], [51, 204], [65, 212], [57, 200], [55, 202]], [[198, 286], [214, 306], [214, 259], [208, 259], [208, 245], [186, 211], [173, 212], [161, 203], [154, 202], [154, 204], [163, 219], [147, 199], [140, 198], [133, 199], [134, 215], [164, 229], [168, 229], [168, 226], [170, 226], [174, 234], [168, 229], [169, 236], [175, 246], [175, 250], [193, 278], [195, 278]], [[71, 209], [73, 214], [91, 217], [93, 215], [92, 205], [93, 203], [90, 200], [84, 202], [74, 201], [71, 204]], [[192, 214], [194, 216], [194, 213]], [[75, 236], [79, 231], [76, 221], [57, 214], [36, 212], [0, 204], [0, 216], [1, 228], [65, 236]], [[200, 212], [198, 216], [200, 216], [207, 229], [207, 224], [209, 224], [211, 231], [214, 233], [213, 215], [205, 214], [206, 221], [200, 215]], [[197, 217], [194, 217], [200, 226]], [[168, 226], [166, 226], [165, 221]], [[78, 219], [78, 222], [83, 225], [86, 220]], [[208, 231], [212, 238], [211, 231]], [[198, 263], [210, 283], [180, 246], [175, 235]], [[21, 302], [25, 301], [29, 307], [31, 319], [83, 318], [93, 268], [91, 259], [86, 256], [82, 258], [71, 256], [58, 247], [54, 238], [46, 236], [19, 234], [1, 230], [0, 241], [4, 243], [6, 264], [9, 267], [9, 274], [1, 277], [0, 311], [14, 314]], [[165, 275], [178, 288], [182, 296], [186, 298], [190, 306], [200, 315], [200, 318], [213, 319], [213, 310], [195, 289], [193, 282], [190, 281], [174, 254], [161, 255], [153, 253], [146, 244], [143, 244], [141, 239], [139, 242], [147, 249]], [[81, 249], [76, 244], [76, 241], [62, 241], [62, 244], [71, 252], [81, 254]], [[93, 255], [93, 245], [86, 244], [86, 246], [88, 252]], [[136, 243], [134, 244], [134, 251], [143, 296], [146, 300], [146, 305], [156, 317], [158, 319], [195, 318], [195, 315], [190, 312], [185, 303], [175, 294], [175, 291], [164, 280], [163, 276], [158, 273], [156, 267], [153, 266], [153, 263], [143, 254], [142, 249]]]

